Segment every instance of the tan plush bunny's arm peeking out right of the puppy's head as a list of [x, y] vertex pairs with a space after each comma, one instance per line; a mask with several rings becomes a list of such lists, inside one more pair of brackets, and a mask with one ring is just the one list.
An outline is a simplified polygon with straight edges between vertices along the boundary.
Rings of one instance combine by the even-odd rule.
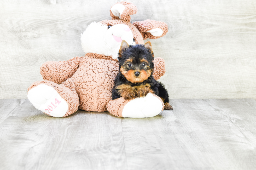
[[160, 79], [165, 74], [165, 60], [158, 57], [154, 59], [153, 77], [155, 80]]

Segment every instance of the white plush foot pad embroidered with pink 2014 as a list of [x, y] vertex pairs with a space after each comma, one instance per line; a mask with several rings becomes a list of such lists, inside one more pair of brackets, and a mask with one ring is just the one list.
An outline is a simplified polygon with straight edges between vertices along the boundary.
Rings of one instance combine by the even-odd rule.
[[35, 108], [53, 117], [63, 117], [68, 111], [67, 102], [51, 86], [40, 84], [29, 90], [27, 97]]

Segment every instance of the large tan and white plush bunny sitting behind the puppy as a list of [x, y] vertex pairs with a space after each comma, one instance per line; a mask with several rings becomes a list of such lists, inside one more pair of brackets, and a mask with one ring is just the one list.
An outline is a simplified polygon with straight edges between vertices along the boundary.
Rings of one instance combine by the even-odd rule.
[[[121, 41], [130, 45], [144, 44], [143, 39], [164, 36], [168, 27], [160, 21], [146, 20], [130, 23], [137, 8], [129, 2], [118, 2], [110, 10], [112, 20], [91, 23], [82, 34], [86, 55], [68, 61], [48, 61], [40, 73], [44, 81], [28, 88], [28, 99], [39, 110], [54, 117], [73, 114], [78, 108], [86, 111], [109, 111], [120, 117], [152, 117], [164, 106], [155, 94], [144, 98], [111, 100], [114, 79], [119, 71], [117, 60]], [[154, 59], [154, 78], [165, 73], [165, 63]]]

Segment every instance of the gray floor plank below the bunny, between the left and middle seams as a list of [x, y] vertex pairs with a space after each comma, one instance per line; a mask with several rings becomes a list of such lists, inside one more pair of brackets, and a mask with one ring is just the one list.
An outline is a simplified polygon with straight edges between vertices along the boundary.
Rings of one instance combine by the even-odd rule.
[[42, 114], [26, 99], [0, 124], [0, 169], [124, 169], [121, 119], [78, 110]]

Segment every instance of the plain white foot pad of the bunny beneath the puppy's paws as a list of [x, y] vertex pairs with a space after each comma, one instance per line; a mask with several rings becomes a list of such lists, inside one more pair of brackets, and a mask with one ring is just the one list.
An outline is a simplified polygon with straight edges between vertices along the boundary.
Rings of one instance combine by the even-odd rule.
[[122, 115], [123, 117], [132, 118], [153, 117], [158, 115], [162, 108], [162, 102], [148, 93], [144, 98], [135, 98], [128, 102], [123, 108]]

